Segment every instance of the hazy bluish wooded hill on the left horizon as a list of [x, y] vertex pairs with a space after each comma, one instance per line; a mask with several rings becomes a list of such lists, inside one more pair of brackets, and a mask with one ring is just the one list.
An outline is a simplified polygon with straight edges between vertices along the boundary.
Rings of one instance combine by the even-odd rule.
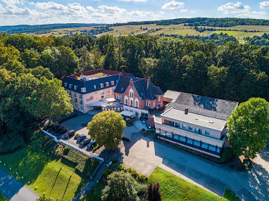
[[0, 26], [0, 32], [8, 34], [19, 34], [27, 32], [38, 32], [42, 30], [55, 30], [74, 27], [91, 27], [103, 26], [106, 24], [85, 24], [85, 23], [68, 23], [68, 24], [48, 24], [48, 25], [15, 25], [15, 26]]

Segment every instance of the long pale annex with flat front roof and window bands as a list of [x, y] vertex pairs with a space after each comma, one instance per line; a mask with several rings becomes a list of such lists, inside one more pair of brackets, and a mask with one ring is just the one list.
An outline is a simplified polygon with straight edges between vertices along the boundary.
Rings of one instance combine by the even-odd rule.
[[154, 119], [158, 138], [220, 157], [229, 145], [227, 119], [238, 102], [170, 90], [163, 101], [165, 110]]

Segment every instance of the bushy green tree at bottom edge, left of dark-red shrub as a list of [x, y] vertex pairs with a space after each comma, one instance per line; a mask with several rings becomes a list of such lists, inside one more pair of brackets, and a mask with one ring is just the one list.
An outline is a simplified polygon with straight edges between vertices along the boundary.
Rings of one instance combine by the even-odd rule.
[[138, 200], [134, 179], [124, 171], [114, 171], [108, 176], [108, 185], [102, 190], [101, 200]]

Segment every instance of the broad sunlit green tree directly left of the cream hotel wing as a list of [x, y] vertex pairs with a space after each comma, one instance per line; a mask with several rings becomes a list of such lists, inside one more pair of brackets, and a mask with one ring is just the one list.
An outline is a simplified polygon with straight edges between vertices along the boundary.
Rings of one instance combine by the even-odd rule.
[[46, 79], [42, 77], [38, 90], [27, 97], [23, 103], [27, 110], [37, 118], [60, 118], [73, 112], [70, 97], [59, 79]]

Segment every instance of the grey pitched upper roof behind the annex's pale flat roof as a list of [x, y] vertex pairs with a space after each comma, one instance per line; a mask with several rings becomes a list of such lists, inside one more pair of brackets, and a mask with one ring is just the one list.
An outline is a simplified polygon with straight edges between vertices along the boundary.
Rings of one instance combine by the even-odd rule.
[[[178, 94], [178, 96], [176, 95], [176, 99], [173, 91], [169, 91], [168, 93], [165, 92], [165, 98], [171, 97], [171, 99], [174, 100], [174, 102], [170, 102], [167, 105], [165, 111], [170, 108], [178, 110], [188, 108], [189, 112], [192, 113], [227, 120], [231, 115], [232, 110], [234, 110], [234, 108], [238, 105], [238, 102], [232, 100], [209, 98], [184, 92], [178, 93], [177, 91], [175, 91], [175, 93]], [[170, 96], [168, 96], [169, 94]]]

